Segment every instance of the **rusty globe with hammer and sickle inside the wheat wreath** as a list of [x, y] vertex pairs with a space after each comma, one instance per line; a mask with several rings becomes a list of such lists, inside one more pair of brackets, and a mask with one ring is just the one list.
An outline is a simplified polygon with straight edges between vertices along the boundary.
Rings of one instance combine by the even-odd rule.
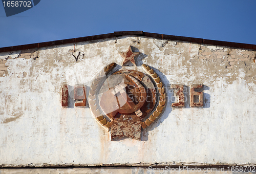
[[142, 116], [140, 108], [143, 106], [146, 100], [146, 90], [143, 85], [134, 77], [124, 74], [129, 81], [133, 82], [136, 90], [139, 89], [140, 99], [135, 103], [134, 98], [131, 98], [127, 91], [125, 90], [124, 84], [118, 84], [114, 89], [104, 92], [102, 97], [108, 98], [108, 103], [103, 103], [101, 100], [100, 105], [104, 113], [110, 115], [112, 118], [116, 116], [117, 113], [120, 114], [132, 114], [135, 113], [138, 117]]

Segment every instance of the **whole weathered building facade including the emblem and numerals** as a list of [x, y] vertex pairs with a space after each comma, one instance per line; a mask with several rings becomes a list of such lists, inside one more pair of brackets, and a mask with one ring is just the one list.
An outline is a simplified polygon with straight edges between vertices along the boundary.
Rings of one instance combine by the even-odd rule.
[[[0, 171], [249, 171], [255, 59], [255, 45], [142, 31], [0, 48]], [[127, 85], [140, 91], [136, 106], [118, 102], [115, 112]], [[143, 95], [155, 100], [145, 104]]]

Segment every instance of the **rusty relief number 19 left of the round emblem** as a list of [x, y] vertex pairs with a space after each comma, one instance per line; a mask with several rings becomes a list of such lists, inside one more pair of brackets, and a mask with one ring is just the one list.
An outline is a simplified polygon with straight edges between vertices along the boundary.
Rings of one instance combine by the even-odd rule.
[[[74, 99], [76, 107], [85, 107], [86, 106], [86, 87], [84, 85], [75, 85], [74, 88]], [[68, 85], [65, 84], [62, 87], [61, 92], [61, 106], [68, 107], [69, 105], [69, 89]]]

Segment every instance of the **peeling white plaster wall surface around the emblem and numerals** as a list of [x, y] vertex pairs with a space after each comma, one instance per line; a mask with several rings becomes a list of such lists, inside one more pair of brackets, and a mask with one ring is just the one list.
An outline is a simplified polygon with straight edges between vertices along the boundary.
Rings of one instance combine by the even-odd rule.
[[[88, 106], [61, 107], [61, 87], [90, 86], [130, 45], [142, 53], [135, 69], [154, 68], [168, 102], [142, 141], [110, 141]], [[255, 53], [137, 36], [0, 53], [0, 164], [255, 165]], [[172, 108], [170, 84], [184, 84], [187, 99], [203, 84], [204, 107]]]

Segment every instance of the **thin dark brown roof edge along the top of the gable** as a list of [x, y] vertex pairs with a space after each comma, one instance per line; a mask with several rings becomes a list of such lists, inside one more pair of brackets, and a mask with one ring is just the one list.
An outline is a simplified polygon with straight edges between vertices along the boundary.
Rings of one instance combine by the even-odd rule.
[[206, 45], [214, 45], [214, 46], [224, 46], [224, 47], [256, 50], [256, 45], [252, 45], [252, 44], [241, 44], [237, 42], [208, 40], [208, 39], [201, 39], [201, 38], [194, 38], [194, 37], [183, 37], [183, 36], [174, 36], [174, 35], [157, 34], [157, 33], [147, 33], [143, 31], [118, 31], [118, 32], [109, 33], [109, 34], [100, 34], [100, 35], [78, 37], [78, 38], [72, 38], [72, 39], [47, 41], [47, 42], [40, 42], [37, 44], [27, 44], [27, 45], [21, 45], [21, 46], [3, 47], [3, 48], [0, 48], [0, 53], [41, 48], [41, 47], [50, 47], [50, 46], [57, 46], [62, 44], [71, 44], [71, 43], [76, 43], [81, 41], [105, 39], [105, 38], [127, 36], [127, 35], [138, 35], [138, 36], [153, 37], [158, 39], [193, 42], [196, 44], [206, 44]]

